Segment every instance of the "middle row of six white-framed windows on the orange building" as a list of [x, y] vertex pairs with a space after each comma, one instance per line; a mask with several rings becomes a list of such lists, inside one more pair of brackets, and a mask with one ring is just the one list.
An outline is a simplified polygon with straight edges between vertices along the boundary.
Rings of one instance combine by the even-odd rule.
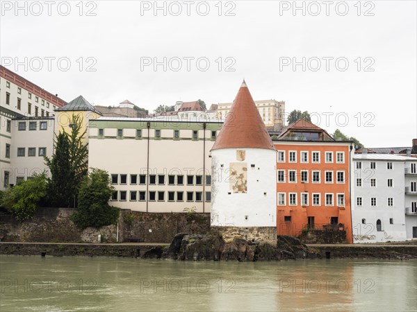
[[[277, 181], [279, 183], [285, 183], [288, 177], [288, 182], [297, 183], [297, 179], [300, 178], [302, 183], [320, 183], [320, 170], [311, 171], [311, 180], [309, 180], [309, 171], [301, 170], [300, 174], [297, 173], [297, 170], [290, 169], [288, 170], [288, 175], [286, 175], [285, 170], [278, 170]], [[325, 171], [325, 182], [333, 183], [334, 182], [334, 171]], [[336, 171], [336, 182], [345, 183], [345, 171]]]

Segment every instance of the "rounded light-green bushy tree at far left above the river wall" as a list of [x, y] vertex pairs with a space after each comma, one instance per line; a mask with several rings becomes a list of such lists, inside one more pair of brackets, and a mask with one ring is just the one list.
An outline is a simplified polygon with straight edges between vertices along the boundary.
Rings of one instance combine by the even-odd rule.
[[6, 189], [1, 198], [1, 206], [14, 214], [17, 220], [28, 220], [38, 210], [38, 205], [46, 195], [46, 190], [46, 173], [35, 173], [32, 179]]

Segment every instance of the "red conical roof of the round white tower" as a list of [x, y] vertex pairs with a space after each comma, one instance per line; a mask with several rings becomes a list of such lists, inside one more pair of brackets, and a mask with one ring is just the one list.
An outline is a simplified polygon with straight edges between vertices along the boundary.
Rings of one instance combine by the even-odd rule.
[[238, 95], [231, 105], [222, 130], [211, 150], [220, 148], [264, 148], [275, 150], [274, 144], [249, 89], [243, 80]]

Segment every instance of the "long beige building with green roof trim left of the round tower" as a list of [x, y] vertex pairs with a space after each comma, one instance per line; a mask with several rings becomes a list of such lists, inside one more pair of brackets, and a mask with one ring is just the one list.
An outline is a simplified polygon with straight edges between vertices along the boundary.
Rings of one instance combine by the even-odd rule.
[[90, 121], [90, 168], [111, 175], [111, 205], [149, 212], [211, 209], [209, 153], [219, 122], [101, 117]]

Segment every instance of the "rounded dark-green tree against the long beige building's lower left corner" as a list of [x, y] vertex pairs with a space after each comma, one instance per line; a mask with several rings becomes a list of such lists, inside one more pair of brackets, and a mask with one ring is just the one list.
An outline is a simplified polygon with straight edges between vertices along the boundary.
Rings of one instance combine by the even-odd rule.
[[80, 185], [78, 211], [72, 215], [75, 225], [85, 229], [115, 224], [120, 209], [108, 205], [112, 192], [108, 173], [92, 168]]

